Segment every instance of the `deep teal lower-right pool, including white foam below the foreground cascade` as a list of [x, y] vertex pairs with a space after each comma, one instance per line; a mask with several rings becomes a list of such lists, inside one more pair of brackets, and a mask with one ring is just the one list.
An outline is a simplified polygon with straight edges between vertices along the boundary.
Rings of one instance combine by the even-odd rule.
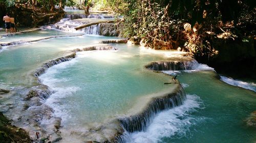
[[245, 120], [256, 109], [253, 91], [234, 87], [213, 71], [182, 73], [187, 100], [161, 112], [145, 132], [131, 142], [255, 142], [256, 130]]

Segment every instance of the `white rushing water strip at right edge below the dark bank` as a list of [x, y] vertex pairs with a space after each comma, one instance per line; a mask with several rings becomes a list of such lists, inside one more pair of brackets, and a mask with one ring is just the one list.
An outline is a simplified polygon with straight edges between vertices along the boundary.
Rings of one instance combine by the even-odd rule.
[[254, 82], [244, 82], [241, 80], [236, 80], [236, 79], [225, 77], [225, 76], [221, 76], [221, 80], [230, 85], [234, 85], [237, 87], [241, 87], [241, 88], [256, 92], [256, 83]]

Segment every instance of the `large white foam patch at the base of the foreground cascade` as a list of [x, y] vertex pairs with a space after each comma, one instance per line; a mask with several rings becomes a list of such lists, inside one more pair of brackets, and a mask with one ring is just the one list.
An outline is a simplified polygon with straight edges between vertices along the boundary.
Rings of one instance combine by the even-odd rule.
[[191, 125], [205, 120], [190, 115], [191, 112], [203, 107], [202, 100], [197, 95], [187, 95], [183, 105], [160, 112], [146, 131], [131, 133], [127, 142], [153, 143], [159, 142], [163, 137], [174, 135], [182, 137], [186, 135]]

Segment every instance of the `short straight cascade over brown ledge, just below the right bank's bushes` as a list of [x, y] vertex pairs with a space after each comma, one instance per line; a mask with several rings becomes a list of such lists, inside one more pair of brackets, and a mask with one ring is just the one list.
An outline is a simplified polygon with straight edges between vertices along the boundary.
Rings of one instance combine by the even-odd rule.
[[154, 71], [166, 71], [166, 70], [192, 70], [195, 69], [199, 63], [193, 59], [189, 61], [160, 61], [152, 62], [146, 65], [147, 69]]

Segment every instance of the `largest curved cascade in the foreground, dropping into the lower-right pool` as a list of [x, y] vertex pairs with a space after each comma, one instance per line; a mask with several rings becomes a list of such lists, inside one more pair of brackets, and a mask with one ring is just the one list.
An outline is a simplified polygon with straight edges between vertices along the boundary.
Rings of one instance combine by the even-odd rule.
[[186, 95], [184, 89], [180, 85], [180, 89], [177, 93], [170, 93], [161, 98], [153, 98], [150, 104], [138, 115], [118, 120], [128, 132], [143, 131], [150, 125], [157, 113], [164, 109], [179, 106], [185, 99]]

